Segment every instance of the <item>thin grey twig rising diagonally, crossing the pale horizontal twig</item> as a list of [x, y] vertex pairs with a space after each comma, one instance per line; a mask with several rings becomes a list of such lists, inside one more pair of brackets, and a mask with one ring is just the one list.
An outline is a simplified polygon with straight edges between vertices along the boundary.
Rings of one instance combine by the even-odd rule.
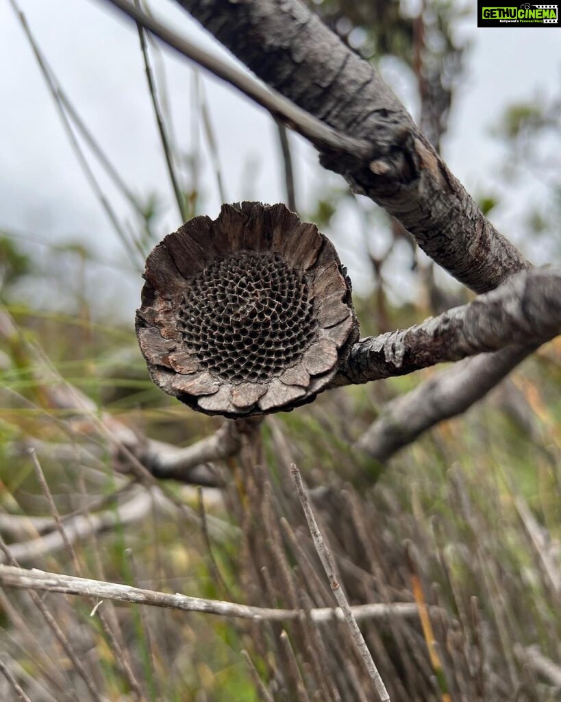
[[300, 498], [300, 502], [302, 503], [304, 514], [306, 515], [306, 521], [308, 522], [308, 527], [310, 529], [311, 538], [313, 539], [313, 544], [315, 545], [316, 551], [318, 552], [318, 556], [320, 557], [320, 560], [323, 564], [325, 574], [327, 575], [327, 578], [330, 582], [335, 599], [339, 603], [339, 607], [341, 608], [344, 614], [344, 618], [347, 626], [349, 627], [349, 630], [351, 631], [353, 641], [356, 644], [361, 658], [363, 658], [368, 673], [372, 678], [372, 681], [374, 682], [374, 686], [377, 689], [381, 701], [389, 702], [390, 697], [388, 695], [388, 691], [386, 690], [384, 681], [381, 679], [381, 676], [378, 673], [376, 663], [374, 663], [374, 660], [372, 658], [372, 655], [370, 654], [370, 651], [368, 650], [364, 637], [360, 632], [360, 629], [358, 628], [356, 618], [353, 615], [353, 609], [349, 605], [349, 602], [346, 599], [341, 585], [339, 585], [337, 579], [335, 578], [335, 564], [333, 561], [333, 557], [331, 555], [330, 550], [327, 548], [327, 544], [323, 540], [323, 536], [318, 527], [318, 523], [316, 522], [316, 517], [313, 516], [313, 511], [311, 509], [308, 495], [306, 494], [306, 489], [304, 488], [304, 483], [302, 482], [302, 476], [300, 475], [300, 472], [294, 463], [292, 463], [290, 470], [292, 471], [292, 478], [294, 479], [296, 489], [298, 491], [298, 496]]

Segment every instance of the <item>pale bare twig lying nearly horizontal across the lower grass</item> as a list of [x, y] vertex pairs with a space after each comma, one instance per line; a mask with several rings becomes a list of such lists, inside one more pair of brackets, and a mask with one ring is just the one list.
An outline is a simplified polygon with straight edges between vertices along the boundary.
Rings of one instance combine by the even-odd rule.
[[[76, 578], [69, 575], [48, 573], [36, 568], [26, 569], [5, 564], [0, 565], [0, 585], [6, 588], [63, 592], [65, 595], [98, 597], [102, 600], [117, 600], [133, 604], [146, 604], [151, 607], [254, 619], [255, 621], [292, 621], [302, 616], [302, 612], [299, 609], [252, 607], [248, 604], [237, 604], [236, 602], [189, 597], [188, 595], [181, 595], [179, 592], [175, 595], [170, 595], [168, 592], [143, 590], [133, 588], [131, 585], [107, 583], [99, 580], [90, 580], [89, 578]], [[418, 609], [417, 604], [414, 602], [394, 602], [392, 604], [361, 604], [351, 607], [351, 612], [358, 619], [380, 619], [383, 621], [386, 617], [393, 615], [415, 618], [417, 617]], [[346, 614], [339, 607], [311, 609], [309, 615], [312, 621], [316, 622], [346, 618]]]

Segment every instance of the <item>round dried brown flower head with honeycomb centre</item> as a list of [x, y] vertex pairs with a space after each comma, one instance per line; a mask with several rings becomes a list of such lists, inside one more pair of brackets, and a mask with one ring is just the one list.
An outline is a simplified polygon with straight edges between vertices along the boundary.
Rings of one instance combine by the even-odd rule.
[[333, 245], [281, 204], [190, 220], [151, 252], [144, 278], [136, 330], [150, 376], [208, 414], [309, 402], [358, 336]]

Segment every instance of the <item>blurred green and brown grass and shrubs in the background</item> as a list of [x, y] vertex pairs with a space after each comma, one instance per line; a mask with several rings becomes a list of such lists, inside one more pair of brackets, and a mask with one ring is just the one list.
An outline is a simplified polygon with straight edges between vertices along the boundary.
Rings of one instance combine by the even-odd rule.
[[[440, 147], [468, 62], [457, 24], [471, 4], [325, 0], [313, 7], [367, 60], [391, 62], [414, 81], [415, 117]], [[40, 27], [36, 32], [40, 44]], [[161, 60], [151, 43], [148, 54]], [[165, 98], [161, 70], [156, 81]], [[215, 153], [220, 184], [212, 105], [201, 86], [198, 95], [194, 109]], [[529, 198], [525, 206], [527, 237], [557, 252], [561, 149], [550, 145], [560, 137], [560, 100], [511, 105], [494, 125], [507, 154], [501, 164], [505, 187], [538, 178], [547, 188], [546, 205]], [[205, 213], [198, 152], [177, 152], [165, 109], [163, 123], [170, 176], [180, 183], [175, 205], [189, 217]], [[279, 151], [279, 168], [282, 159]], [[144, 198], [128, 193], [133, 218], [111, 220], [123, 241], [122, 260], [95, 256], [78, 236], [53, 246], [37, 235], [0, 232], [0, 511], [16, 518], [8, 519], [11, 527], [0, 521], [0, 533], [8, 543], [33, 548], [39, 534], [55, 531], [41, 522], [50, 511], [29, 448], [39, 456], [65, 518], [112, 515], [111, 526], [76, 540], [76, 559], [64, 548], [39, 548], [25, 557], [23, 548], [22, 564], [74, 573], [77, 563], [81, 574], [93, 578], [265, 607], [332, 606], [288, 479], [295, 461], [317, 490], [322, 526], [351, 601], [426, 602], [446, 613], [433, 618], [432, 633], [416, 618], [363, 624], [393, 700], [559, 699], [559, 681], [529, 663], [529, 651], [538, 651], [559, 675], [560, 340], [541, 348], [465, 416], [434, 428], [389, 465], [357, 455], [353, 441], [386, 402], [438, 370], [337, 390], [280, 414], [229, 463], [231, 482], [224, 491], [200, 494], [170, 482], [166, 494], [184, 510], [169, 499], [162, 508], [152, 498], [144, 512], [123, 515], [123, 505], [144, 492], [111, 449], [108, 423], [177, 446], [219, 426], [152, 385], [132, 319], [123, 320], [118, 300], [104, 291], [107, 280], [120, 274], [137, 276], [140, 290], [143, 258], [167, 233], [160, 231], [160, 188], [155, 184]], [[435, 275], [409, 234], [379, 208], [320, 170], [317, 192], [315, 204], [301, 214], [336, 245], [349, 246], [337, 232], [342, 211], [352, 211], [359, 223], [361, 237], [349, 255], [371, 264], [371, 292], [356, 298], [364, 336], [409, 326], [468, 299], [464, 289]], [[491, 216], [501, 206], [494, 192], [479, 199]], [[405, 300], [391, 290], [396, 251], [416, 281]], [[88, 398], [87, 412], [69, 402], [73, 388]], [[199, 519], [203, 505], [206, 529]], [[275, 700], [372, 698], [360, 660], [336, 623], [283, 628], [108, 603], [98, 610], [105, 613], [102, 621], [92, 614], [95, 602], [62, 595], [43, 601], [100, 700], [268, 699], [242, 649]], [[95, 698], [27, 595], [0, 593], [0, 626], [4, 660], [34, 702]], [[2, 699], [16, 699], [4, 680], [0, 691]]]

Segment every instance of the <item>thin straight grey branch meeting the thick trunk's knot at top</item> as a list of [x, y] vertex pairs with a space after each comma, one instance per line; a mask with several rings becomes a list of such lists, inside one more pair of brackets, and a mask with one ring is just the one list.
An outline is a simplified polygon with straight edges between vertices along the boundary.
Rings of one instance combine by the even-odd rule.
[[218, 78], [226, 81], [230, 85], [238, 88], [248, 98], [257, 102], [273, 117], [283, 119], [283, 121], [295, 128], [302, 136], [309, 139], [316, 145], [323, 145], [333, 150], [344, 150], [349, 154], [354, 154], [359, 159], [368, 160], [372, 154], [372, 145], [366, 140], [358, 140], [352, 137], [339, 133], [337, 130], [325, 125], [316, 117], [297, 107], [293, 102], [285, 98], [280, 93], [273, 90], [267, 90], [260, 85], [255, 79], [241, 73], [237, 68], [225, 63], [223, 60], [216, 58], [210, 53], [198, 48], [190, 41], [180, 37], [165, 25], [157, 20], [152, 19], [147, 14], [137, 10], [127, 0], [105, 0], [121, 12], [128, 15], [154, 34], [158, 39], [168, 44], [175, 51], [181, 53], [198, 65], [207, 69], [210, 73]]

